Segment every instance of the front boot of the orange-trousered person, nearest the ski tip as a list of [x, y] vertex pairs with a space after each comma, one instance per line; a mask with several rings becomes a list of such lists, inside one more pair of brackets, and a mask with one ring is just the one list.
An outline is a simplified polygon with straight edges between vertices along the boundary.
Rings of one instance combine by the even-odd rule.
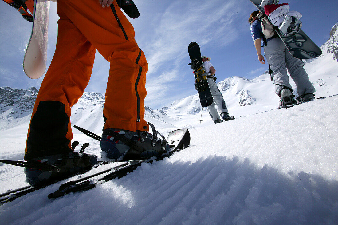
[[[146, 131], [105, 129], [101, 138], [103, 156], [117, 161], [141, 160], [158, 157], [170, 150], [166, 139], [148, 123], [153, 135]], [[157, 134], [162, 137], [158, 138]]]

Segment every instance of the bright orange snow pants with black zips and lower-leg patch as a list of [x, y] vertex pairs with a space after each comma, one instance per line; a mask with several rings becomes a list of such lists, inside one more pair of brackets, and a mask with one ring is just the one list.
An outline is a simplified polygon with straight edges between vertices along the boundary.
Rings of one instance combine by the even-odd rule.
[[57, 14], [56, 49], [32, 112], [25, 160], [72, 151], [70, 107], [88, 85], [96, 50], [110, 62], [103, 129], [149, 129], [144, 120], [148, 63], [116, 1], [102, 8], [98, 0], [58, 0]]

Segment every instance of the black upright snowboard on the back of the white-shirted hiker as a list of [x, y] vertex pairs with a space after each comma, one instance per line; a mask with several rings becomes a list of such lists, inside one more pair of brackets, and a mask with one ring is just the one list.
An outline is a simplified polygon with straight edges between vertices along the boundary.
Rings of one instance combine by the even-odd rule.
[[188, 47], [191, 62], [188, 64], [194, 70], [195, 89], [198, 91], [199, 101], [202, 107], [208, 107], [213, 103], [213, 97], [209, 88], [207, 73], [202, 65], [201, 51], [196, 42], [191, 42]]

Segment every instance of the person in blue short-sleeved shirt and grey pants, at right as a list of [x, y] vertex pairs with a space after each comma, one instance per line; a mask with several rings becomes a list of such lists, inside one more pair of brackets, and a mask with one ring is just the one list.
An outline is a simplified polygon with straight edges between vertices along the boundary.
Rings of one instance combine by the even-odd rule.
[[314, 99], [313, 87], [309, 76], [303, 68], [304, 63], [294, 58], [283, 41], [275, 34], [271, 38], [266, 39], [263, 35], [261, 20], [257, 20], [259, 11], [253, 12], [248, 22], [251, 24], [251, 35], [255, 43], [259, 62], [265, 64], [263, 55], [261, 54], [262, 46], [267, 62], [270, 66], [269, 72], [271, 80], [275, 84], [275, 93], [281, 97], [280, 107], [295, 103], [293, 89], [289, 83], [287, 71], [296, 84], [297, 101], [304, 102]]

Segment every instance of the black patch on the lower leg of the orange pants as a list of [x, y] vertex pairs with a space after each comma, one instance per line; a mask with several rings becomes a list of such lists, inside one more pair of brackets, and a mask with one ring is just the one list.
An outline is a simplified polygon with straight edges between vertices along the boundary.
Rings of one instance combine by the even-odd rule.
[[72, 151], [66, 138], [68, 122], [65, 104], [40, 102], [30, 123], [25, 160]]

